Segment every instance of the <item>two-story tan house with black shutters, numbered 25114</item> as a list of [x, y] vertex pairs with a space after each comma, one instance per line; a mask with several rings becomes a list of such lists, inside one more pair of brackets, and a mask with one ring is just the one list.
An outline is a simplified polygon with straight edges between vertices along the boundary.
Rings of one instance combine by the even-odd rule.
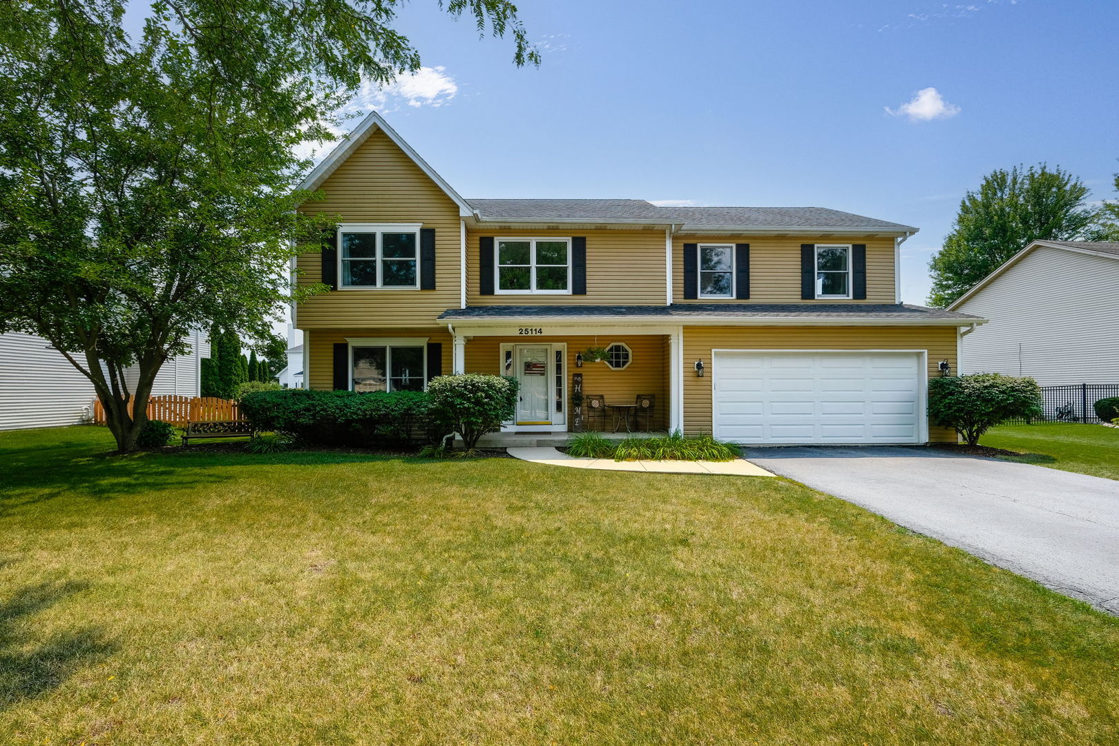
[[[303, 188], [340, 215], [299, 257], [332, 292], [297, 309], [311, 388], [515, 376], [509, 432], [573, 426], [572, 386], [656, 397], [653, 428], [742, 443], [952, 441], [928, 377], [982, 320], [902, 305], [915, 228], [831, 209], [463, 199], [369, 114]], [[609, 350], [585, 362], [587, 348]], [[697, 370], [699, 368], [699, 370]], [[699, 374], [703, 374], [702, 376]]]

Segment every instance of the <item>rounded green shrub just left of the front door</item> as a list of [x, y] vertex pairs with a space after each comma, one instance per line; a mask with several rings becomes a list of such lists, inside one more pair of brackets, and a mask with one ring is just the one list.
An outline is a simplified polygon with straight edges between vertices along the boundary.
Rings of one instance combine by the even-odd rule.
[[501, 428], [517, 409], [517, 380], [504, 376], [464, 374], [438, 376], [427, 384], [431, 413], [462, 437], [468, 452], [486, 433]]

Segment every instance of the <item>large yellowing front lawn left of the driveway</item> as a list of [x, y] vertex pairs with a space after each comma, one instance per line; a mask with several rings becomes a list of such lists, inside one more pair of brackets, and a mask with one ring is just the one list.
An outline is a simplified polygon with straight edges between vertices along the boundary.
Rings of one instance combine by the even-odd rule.
[[1119, 620], [780, 479], [0, 433], [0, 743], [1119, 743]]

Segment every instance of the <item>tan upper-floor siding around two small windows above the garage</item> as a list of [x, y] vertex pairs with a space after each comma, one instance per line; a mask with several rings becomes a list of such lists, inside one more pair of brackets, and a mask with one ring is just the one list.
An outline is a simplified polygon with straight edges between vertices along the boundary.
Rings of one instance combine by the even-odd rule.
[[[684, 299], [684, 244], [750, 244], [750, 303], [895, 303], [893, 238], [790, 238], [673, 236], [674, 303], [741, 303], [734, 299]], [[800, 298], [801, 244], [866, 244], [866, 300]]]

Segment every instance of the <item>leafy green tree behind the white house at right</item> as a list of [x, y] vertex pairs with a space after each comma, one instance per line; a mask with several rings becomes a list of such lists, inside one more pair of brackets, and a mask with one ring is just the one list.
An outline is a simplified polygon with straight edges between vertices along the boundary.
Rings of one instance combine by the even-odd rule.
[[932, 305], [946, 306], [1038, 239], [1071, 240], [1097, 218], [1088, 187], [1060, 168], [997, 170], [960, 201], [952, 232], [932, 257]]

